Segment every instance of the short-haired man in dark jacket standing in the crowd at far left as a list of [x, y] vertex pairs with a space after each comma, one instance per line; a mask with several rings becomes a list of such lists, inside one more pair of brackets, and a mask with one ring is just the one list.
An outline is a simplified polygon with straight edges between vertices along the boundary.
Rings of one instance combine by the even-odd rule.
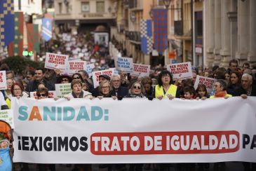
[[34, 72], [34, 77], [35, 77], [34, 80], [29, 81], [29, 83], [27, 84], [27, 88], [26, 88], [27, 92], [36, 91], [39, 83], [44, 83], [44, 85], [46, 86], [46, 88], [48, 88], [48, 90], [55, 90], [55, 85], [53, 85], [52, 83], [44, 79], [43, 68], [37, 68], [36, 71]]

